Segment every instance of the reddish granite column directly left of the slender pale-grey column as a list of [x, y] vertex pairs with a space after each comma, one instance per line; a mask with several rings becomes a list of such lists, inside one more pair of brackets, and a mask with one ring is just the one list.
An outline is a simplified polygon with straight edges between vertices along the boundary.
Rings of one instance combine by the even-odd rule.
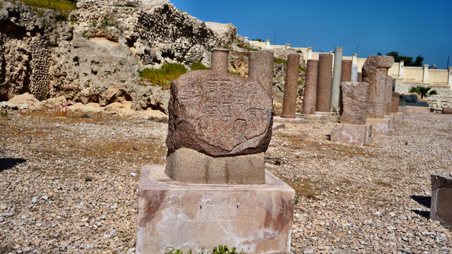
[[332, 65], [333, 56], [331, 54], [319, 54], [316, 111], [331, 111], [331, 82], [333, 82], [331, 71], [331, 68], [333, 68]]

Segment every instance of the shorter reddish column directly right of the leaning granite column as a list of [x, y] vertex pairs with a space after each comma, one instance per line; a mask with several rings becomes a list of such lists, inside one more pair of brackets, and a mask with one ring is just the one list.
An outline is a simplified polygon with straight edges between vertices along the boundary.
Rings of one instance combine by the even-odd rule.
[[317, 74], [319, 73], [319, 60], [309, 59], [304, 82], [303, 114], [316, 113], [317, 100]]

